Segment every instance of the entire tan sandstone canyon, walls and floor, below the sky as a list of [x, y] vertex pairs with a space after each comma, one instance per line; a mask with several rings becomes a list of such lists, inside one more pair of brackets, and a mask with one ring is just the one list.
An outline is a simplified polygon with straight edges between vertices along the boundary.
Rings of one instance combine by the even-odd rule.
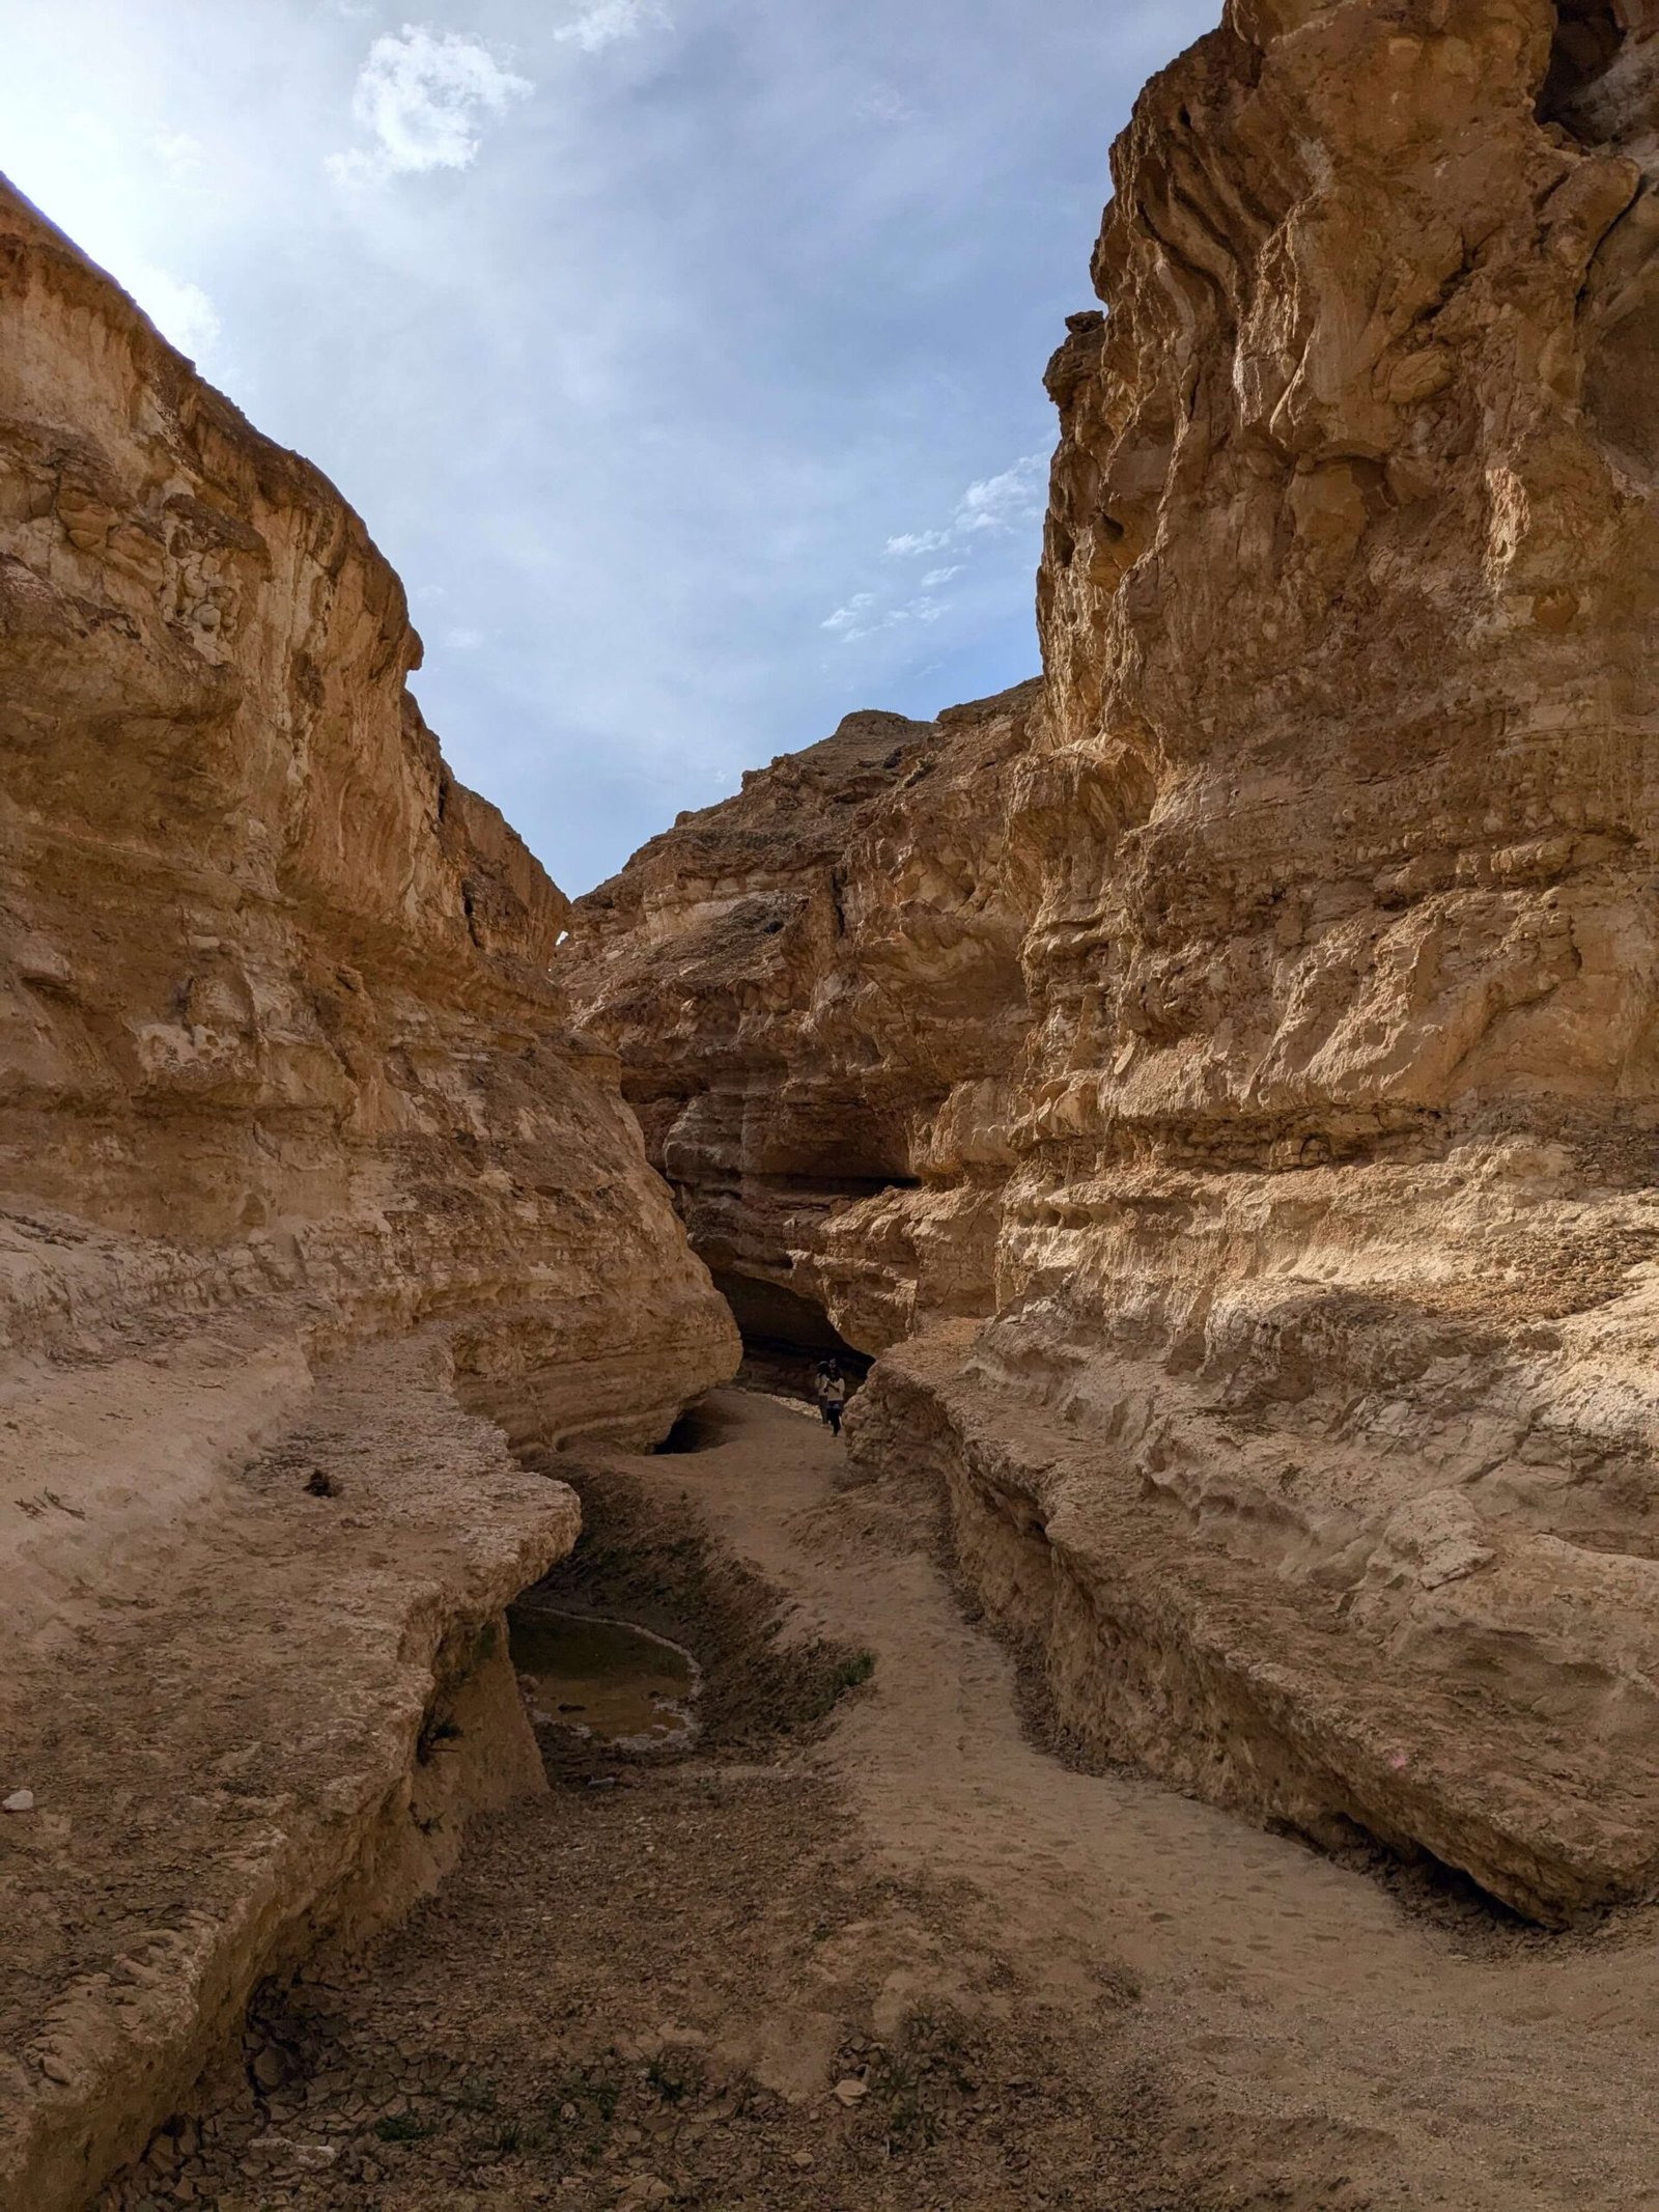
[[1652, 2199], [1655, 31], [1230, 0], [1042, 675], [577, 902], [0, 186], [0, 2205]]

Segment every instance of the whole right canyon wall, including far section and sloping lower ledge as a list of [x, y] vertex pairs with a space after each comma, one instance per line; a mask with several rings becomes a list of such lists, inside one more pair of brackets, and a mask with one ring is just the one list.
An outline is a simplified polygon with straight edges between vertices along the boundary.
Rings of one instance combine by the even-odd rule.
[[1048, 369], [1042, 690], [571, 964], [1093, 1752], [1544, 1920], [1659, 1882], [1652, 29], [1234, 0]]

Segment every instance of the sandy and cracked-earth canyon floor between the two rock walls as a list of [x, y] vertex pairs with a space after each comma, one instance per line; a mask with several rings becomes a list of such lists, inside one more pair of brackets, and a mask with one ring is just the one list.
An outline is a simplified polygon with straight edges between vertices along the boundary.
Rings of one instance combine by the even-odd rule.
[[657, 1531], [630, 1597], [657, 1577], [672, 1617], [664, 1566], [706, 1528], [783, 1601], [774, 1659], [825, 1639], [869, 1681], [825, 1730], [555, 1770], [400, 1931], [265, 2002], [257, 2095], [111, 2203], [1659, 2203], [1650, 1916], [1436, 1920], [1066, 1770], [951, 1590], [933, 1500], [849, 1480], [779, 1398], [717, 1391], [699, 1449], [566, 1471], [617, 1559], [617, 1486], [635, 1542]]

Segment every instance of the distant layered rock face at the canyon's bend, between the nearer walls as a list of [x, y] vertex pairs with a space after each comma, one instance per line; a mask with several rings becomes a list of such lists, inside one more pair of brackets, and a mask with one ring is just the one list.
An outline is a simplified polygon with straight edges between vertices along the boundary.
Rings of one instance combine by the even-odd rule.
[[834, 1316], [876, 1352], [918, 1305], [989, 1307], [995, 1084], [1026, 1024], [1006, 803], [1033, 699], [849, 714], [573, 916], [560, 975], [759, 1334], [834, 1343]]

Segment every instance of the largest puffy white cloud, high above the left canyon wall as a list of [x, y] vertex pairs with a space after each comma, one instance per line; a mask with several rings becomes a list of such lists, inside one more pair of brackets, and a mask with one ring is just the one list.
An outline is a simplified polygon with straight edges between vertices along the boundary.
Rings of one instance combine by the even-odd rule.
[[327, 170], [343, 184], [376, 184], [469, 168], [482, 119], [533, 91], [482, 40], [407, 22], [400, 33], [374, 40], [352, 93], [352, 115], [372, 144], [330, 155]]

